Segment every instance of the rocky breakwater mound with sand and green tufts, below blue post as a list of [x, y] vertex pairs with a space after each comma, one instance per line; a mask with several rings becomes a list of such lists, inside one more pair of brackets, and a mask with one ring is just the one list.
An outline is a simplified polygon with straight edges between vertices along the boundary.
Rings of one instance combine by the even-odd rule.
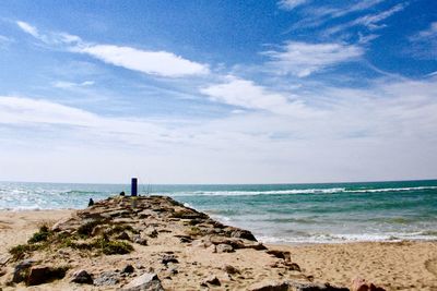
[[[113, 197], [42, 226], [0, 262], [0, 290], [349, 290], [290, 252], [166, 196]], [[362, 284], [365, 288], [365, 283]], [[355, 290], [380, 290], [358, 289]]]

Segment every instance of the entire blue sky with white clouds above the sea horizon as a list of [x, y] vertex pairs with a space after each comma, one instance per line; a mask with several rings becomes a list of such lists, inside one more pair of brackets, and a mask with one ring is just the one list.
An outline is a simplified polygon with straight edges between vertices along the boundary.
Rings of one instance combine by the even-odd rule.
[[0, 181], [437, 178], [434, 0], [0, 1]]

